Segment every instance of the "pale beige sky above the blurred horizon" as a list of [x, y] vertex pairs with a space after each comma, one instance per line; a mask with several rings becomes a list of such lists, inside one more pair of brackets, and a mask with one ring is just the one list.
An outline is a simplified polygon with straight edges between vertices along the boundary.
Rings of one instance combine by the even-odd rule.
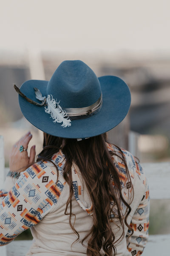
[[170, 53], [169, 0], [0, 0], [0, 51]]

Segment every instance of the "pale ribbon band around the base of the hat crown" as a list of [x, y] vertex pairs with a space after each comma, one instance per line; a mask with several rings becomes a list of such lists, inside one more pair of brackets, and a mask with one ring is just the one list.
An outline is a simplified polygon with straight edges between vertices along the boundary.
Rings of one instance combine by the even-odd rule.
[[67, 113], [67, 116], [70, 116], [71, 119], [74, 117], [79, 117], [79, 116], [89, 116], [96, 111], [98, 111], [102, 107], [102, 93], [99, 97], [99, 99], [92, 105], [84, 108], [63, 108], [65, 112]]

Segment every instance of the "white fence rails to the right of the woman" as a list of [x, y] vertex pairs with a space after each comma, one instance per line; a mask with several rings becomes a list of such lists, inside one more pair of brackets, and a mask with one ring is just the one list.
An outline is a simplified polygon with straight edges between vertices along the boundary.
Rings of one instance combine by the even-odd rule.
[[[170, 199], [170, 163], [143, 163], [142, 167], [148, 178], [150, 199]], [[149, 236], [142, 256], [170, 256], [170, 234]]]

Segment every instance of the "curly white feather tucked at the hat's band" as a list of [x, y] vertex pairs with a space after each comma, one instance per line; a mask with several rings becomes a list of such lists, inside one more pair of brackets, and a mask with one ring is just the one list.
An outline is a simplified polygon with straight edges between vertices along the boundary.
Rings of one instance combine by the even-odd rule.
[[47, 96], [46, 103], [47, 107], [45, 107], [45, 112], [51, 114], [52, 119], [54, 119], [53, 122], [62, 122], [62, 127], [71, 126], [71, 120], [68, 117], [65, 117], [67, 116], [67, 113], [65, 112], [65, 110], [62, 110], [59, 102], [53, 99], [52, 95], [51, 97], [50, 95]]

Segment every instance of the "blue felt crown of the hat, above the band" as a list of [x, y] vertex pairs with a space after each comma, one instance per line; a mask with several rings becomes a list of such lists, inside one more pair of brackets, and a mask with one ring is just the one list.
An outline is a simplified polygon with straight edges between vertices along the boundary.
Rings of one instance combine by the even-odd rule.
[[62, 108], [84, 108], [101, 96], [99, 79], [83, 61], [63, 61], [48, 82], [47, 95]]

